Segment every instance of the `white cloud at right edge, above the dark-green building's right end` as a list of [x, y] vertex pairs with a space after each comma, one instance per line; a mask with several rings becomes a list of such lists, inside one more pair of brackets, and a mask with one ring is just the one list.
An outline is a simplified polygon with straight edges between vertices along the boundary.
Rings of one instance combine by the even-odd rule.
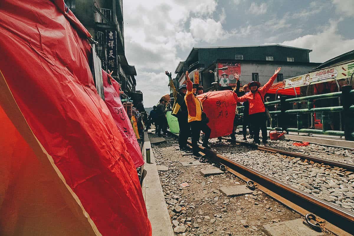
[[322, 28], [319, 33], [308, 34], [294, 40], [284, 41], [281, 44], [312, 49], [310, 61], [325, 62], [353, 50], [354, 39], [345, 39], [337, 32], [339, 21], [330, 20], [329, 26]]

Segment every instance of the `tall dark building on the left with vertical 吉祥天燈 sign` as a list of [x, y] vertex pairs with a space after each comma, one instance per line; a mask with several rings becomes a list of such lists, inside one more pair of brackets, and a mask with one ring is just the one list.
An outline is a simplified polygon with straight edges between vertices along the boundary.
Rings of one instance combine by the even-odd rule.
[[113, 71], [113, 78], [131, 97], [135, 107], [143, 110], [141, 91], [136, 91], [136, 69], [125, 57], [122, 0], [65, 0], [96, 43], [96, 53], [104, 70]]

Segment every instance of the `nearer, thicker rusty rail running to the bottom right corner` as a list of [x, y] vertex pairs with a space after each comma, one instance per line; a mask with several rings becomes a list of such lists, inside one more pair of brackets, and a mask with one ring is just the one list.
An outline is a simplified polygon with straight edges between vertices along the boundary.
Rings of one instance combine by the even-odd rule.
[[[178, 137], [178, 134], [173, 135]], [[191, 145], [189, 140], [188, 144]], [[228, 157], [217, 154], [201, 145], [199, 145], [199, 149], [213, 162], [226, 166], [227, 171], [230, 173], [239, 173], [241, 176], [245, 177], [242, 178], [239, 176], [243, 180], [251, 179], [257, 186], [262, 186], [268, 189], [269, 191], [265, 191], [266, 194], [275, 200], [284, 203], [286, 206], [303, 216], [306, 212], [312, 212], [320, 218], [325, 219], [325, 222], [321, 220], [319, 221], [321, 227], [326, 228], [337, 235], [354, 234], [354, 228], [352, 227], [354, 223], [353, 212], [347, 211], [344, 208], [296, 189], [289, 184], [285, 184], [278, 179], [242, 165]], [[280, 196], [280, 198], [277, 196]], [[304, 209], [306, 210], [304, 211]]]

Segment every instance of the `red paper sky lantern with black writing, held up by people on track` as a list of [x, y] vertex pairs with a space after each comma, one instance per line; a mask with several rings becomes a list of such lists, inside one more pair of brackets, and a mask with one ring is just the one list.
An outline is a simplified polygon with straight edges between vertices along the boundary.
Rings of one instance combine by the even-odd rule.
[[203, 111], [209, 118], [210, 138], [231, 134], [234, 128], [236, 110], [236, 94], [232, 91], [215, 91], [198, 95], [198, 99], [207, 95], [203, 103]]

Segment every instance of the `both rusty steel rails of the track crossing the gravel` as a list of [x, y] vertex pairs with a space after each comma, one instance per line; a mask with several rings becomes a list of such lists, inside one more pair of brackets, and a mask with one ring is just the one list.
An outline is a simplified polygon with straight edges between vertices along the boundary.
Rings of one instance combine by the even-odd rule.
[[[172, 134], [176, 138], [177, 134]], [[225, 138], [226, 139], [226, 138]], [[353, 170], [353, 166], [340, 162], [333, 162], [316, 157], [309, 158], [309, 156], [287, 152], [280, 149], [274, 149], [265, 146], [258, 146], [251, 143], [246, 143], [236, 140], [236, 143], [243, 144], [254, 150], [260, 150], [271, 153], [281, 153], [287, 156], [295, 156], [301, 159], [312, 160], [314, 162], [325, 163], [330, 166], [339, 166], [344, 169]], [[244, 144], [245, 143], [245, 144]], [[189, 144], [191, 144], [189, 142]], [[211, 162], [216, 163], [221, 169], [225, 169], [230, 173], [233, 173], [237, 177], [245, 180], [246, 182], [252, 181], [259, 190], [262, 190], [270, 197], [285, 204], [289, 208], [298, 212], [299, 214], [306, 216], [313, 214], [314, 218], [309, 224], [313, 225], [313, 228], [327, 229], [337, 235], [353, 235], [354, 234], [354, 212], [348, 211], [343, 207], [340, 207], [331, 202], [325, 201], [319, 197], [313, 196], [308, 192], [304, 192], [294, 186], [284, 183], [283, 181], [271, 177], [268, 174], [264, 174], [257, 169], [250, 166], [243, 165], [242, 163], [235, 161], [227, 156], [220, 155], [216, 151], [206, 149], [199, 146], [202, 153], [205, 154], [205, 158]], [[284, 159], [284, 158], [283, 158]], [[312, 223], [311, 223], [312, 222]]]

